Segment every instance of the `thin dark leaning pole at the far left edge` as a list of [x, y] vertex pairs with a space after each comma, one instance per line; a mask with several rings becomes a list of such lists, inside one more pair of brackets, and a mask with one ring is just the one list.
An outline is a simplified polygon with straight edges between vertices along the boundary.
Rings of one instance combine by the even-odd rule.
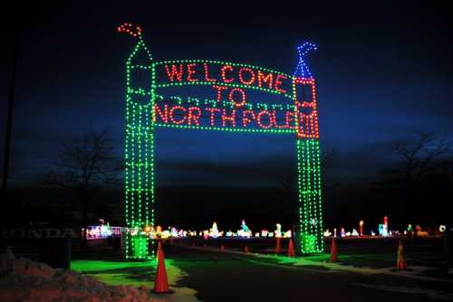
[[[19, 20], [19, 14], [16, 14], [16, 23], [14, 31], [14, 52], [13, 52], [13, 70], [11, 71], [11, 82], [9, 89], [9, 100], [8, 100], [8, 113], [6, 117], [6, 134], [5, 134], [5, 155], [3, 161], [3, 179], [2, 179], [2, 200], [6, 203], [7, 199], [7, 187], [8, 187], [8, 172], [9, 172], [9, 155], [11, 149], [11, 127], [13, 124], [13, 109], [14, 109], [14, 97], [15, 97], [15, 78], [17, 71], [17, 57], [19, 56], [19, 43], [21, 35], [21, 22]], [[5, 207], [5, 204], [4, 204]]]

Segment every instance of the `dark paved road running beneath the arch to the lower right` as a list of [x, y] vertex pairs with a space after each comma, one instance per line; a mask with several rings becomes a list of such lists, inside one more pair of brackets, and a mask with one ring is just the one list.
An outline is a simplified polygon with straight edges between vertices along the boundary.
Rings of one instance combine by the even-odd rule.
[[188, 273], [179, 282], [210, 301], [439, 301], [453, 300], [453, 283], [332, 272], [277, 265], [242, 255], [166, 246], [166, 256]]

